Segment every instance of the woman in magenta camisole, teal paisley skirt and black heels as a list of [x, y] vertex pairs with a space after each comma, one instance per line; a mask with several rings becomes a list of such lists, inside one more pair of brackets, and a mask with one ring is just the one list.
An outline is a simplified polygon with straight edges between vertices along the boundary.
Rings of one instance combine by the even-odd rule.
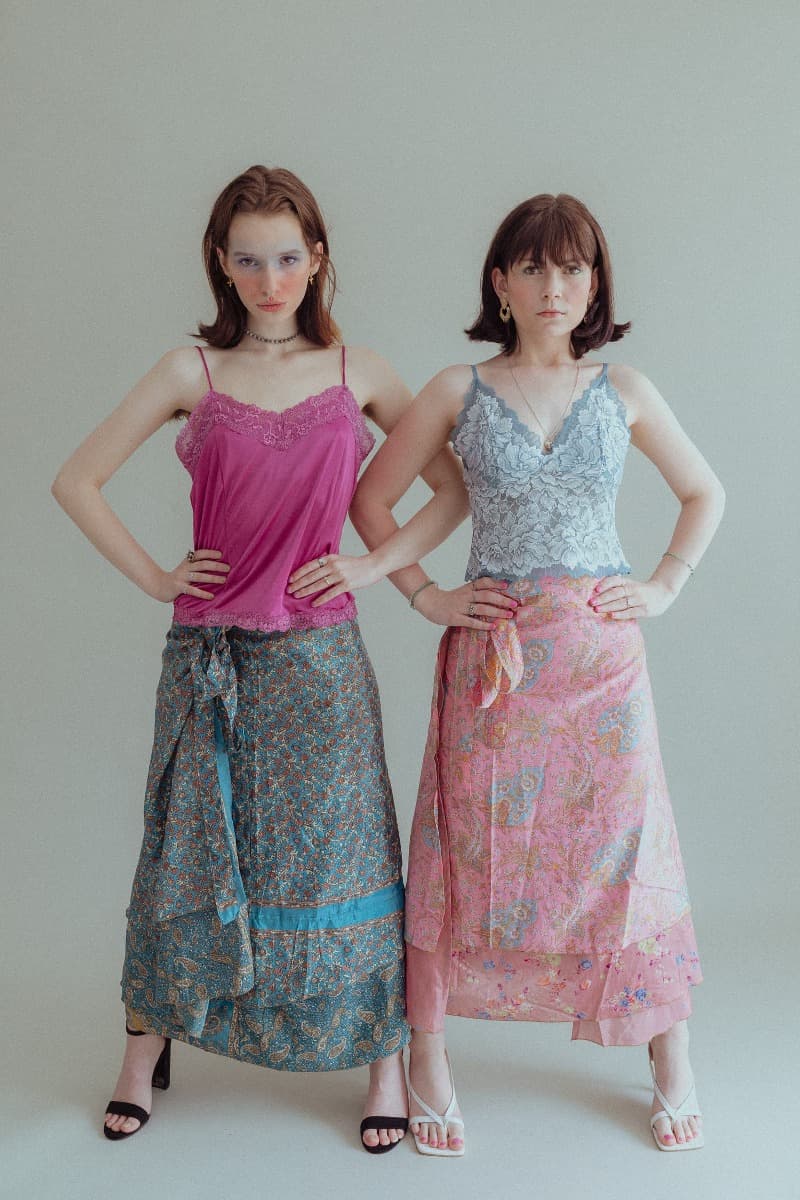
[[[359, 468], [410, 400], [391, 367], [341, 344], [314, 197], [251, 167], [204, 239], [217, 318], [172, 350], [62, 467], [53, 492], [108, 560], [174, 605], [157, 694], [145, 830], [128, 910], [127, 1040], [103, 1132], [121, 1139], [169, 1085], [170, 1039], [283, 1070], [369, 1064], [372, 1153], [408, 1127], [403, 883], [380, 708], [353, 598], [287, 590], [309, 557], [335, 587]], [[173, 570], [102, 496], [176, 414], [194, 538]], [[415, 529], [465, 514], [440, 455]], [[401, 542], [402, 545], [402, 542]], [[414, 586], [419, 568], [401, 572]]]

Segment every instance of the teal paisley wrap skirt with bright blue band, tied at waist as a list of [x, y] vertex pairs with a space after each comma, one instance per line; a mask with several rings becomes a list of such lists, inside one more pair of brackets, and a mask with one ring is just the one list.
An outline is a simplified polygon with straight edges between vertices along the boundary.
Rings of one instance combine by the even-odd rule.
[[167, 635], [127, 912], [132, 1027], [284, 1070], [401, 1049], [401, 848], [357, 624]]

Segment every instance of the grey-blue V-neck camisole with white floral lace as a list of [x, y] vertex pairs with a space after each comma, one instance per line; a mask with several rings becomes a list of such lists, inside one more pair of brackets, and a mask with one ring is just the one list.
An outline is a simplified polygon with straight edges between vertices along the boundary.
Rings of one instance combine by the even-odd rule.
[[473, 514], [468, 580], [630, 572], [614, 522], [630, 433], [608, 364], [572, 404], [551, 454], [476, 367], [450, 439]]

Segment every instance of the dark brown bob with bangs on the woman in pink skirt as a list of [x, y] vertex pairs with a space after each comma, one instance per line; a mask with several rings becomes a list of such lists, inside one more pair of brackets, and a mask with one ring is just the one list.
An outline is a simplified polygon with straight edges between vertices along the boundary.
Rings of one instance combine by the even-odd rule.
[[618, 342], [631, 328], [614, 323], [614, 284], [610, 256], [603, 232], [585, 204], [575, 196], [533, 196], [518, 204], [500, 223], [492, 239], [481, 276], [481, 311], [469, 329], [473, 342], [498, 342], [504, 354], [517, 349], [519, 338], [513, 317], [500, 320], [500, 301], [492, 283], [492, 271], [507, 274], [515, 263], [563, 265], [573, 260], [588, 263], [597, 271], [597, 290], [577, 329], [572, 330], [572, 353], [583, 358], [606, 342]]

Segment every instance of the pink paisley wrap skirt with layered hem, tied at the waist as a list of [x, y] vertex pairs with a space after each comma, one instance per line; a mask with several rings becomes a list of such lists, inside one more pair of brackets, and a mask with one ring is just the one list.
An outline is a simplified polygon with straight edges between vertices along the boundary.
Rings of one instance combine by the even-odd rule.
[[638, 624], [594, 577], [513, 584], [440, 644], [407, 887], [408, 1016], [643, 1044], [700, 982]]

